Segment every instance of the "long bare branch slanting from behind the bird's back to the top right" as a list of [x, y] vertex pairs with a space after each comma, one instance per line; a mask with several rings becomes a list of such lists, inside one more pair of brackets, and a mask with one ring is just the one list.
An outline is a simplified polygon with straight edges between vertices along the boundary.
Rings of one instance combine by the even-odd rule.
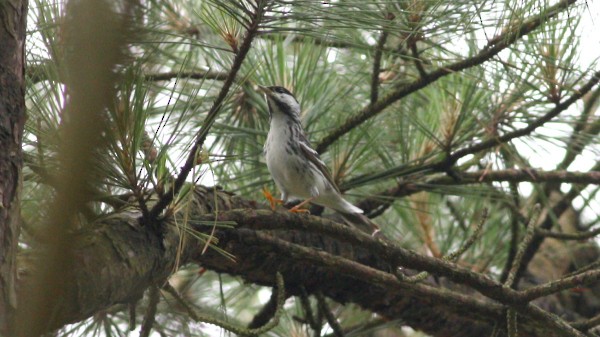
[[488, 45], [485, 48], [483, 48], [477, 55], [462, 61], [442, 66], [437, 70], [429, 73], [426, 78], [419, 78], [414, 82], [399, 87], [398, 89], [389, 93], [382, 99], [378, 100], [375, 104], [369, 104], [367, 107], [359, 111], [356, 115], [350, 117], [346, 123], [334, 129], [330, 134], [325, 136], [325, 138], [323, 138], [316, 145], [315, 149], [319, 153], [325, 152], [327, 148], [335, 141], [337, 141], [341, 136], [350, 132], [366, 120], [376, 116], [385, 108], [387, 108], [394, 102], [400, 100], [401, 98], [425, 88], [426, 86], [437, 81], [441, 77], [478, 66], [490, 60], [502, 50], [508, 48], [510, 45], [515, 43], [522, 36], [529, 34], [533, 30], [538, 28], [541, 24], [557, 16], [564, 9], [568, 8], [575, 2], [576, 0], [562, 0], [556, 5], [546, 8], [544, 13], [535, 15], [532, 18], [523, 21], [519, 26], [508, 27], [507, 29], [505, 29], [505, 32], [503, 34], [498, 35], [495, 39], [491, 40], [490, 43], [488, 43]]

